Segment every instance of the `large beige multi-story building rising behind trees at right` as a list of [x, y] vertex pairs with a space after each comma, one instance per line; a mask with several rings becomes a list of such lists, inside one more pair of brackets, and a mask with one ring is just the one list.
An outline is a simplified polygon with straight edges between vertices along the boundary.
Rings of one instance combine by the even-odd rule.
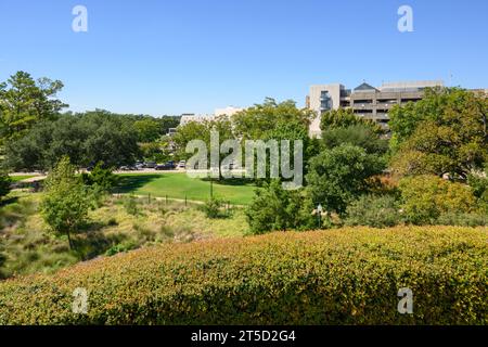
[[374, 88], [367, 82], [350, 90], [341, 83], [311, 86], [306, 99], [306, 106], [317, 113], [317, 118], [310, 125], [310, 136], [320, 136], [320, 115], [322, 113], [351, 108], [361, 117], [373, 119], [387, 127], [388, 112], [394, 105], [422, 100], [425, 88], [444, 87], [440, 80], [389, 82]]

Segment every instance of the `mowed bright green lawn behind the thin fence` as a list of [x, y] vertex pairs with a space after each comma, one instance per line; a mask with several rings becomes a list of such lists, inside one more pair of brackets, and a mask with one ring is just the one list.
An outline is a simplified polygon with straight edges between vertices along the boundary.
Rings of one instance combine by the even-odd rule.
[[[192, 179], [185, 174], [121, 174], [118, 193], [133, 193], [169, 198], [206, 201], [210, 196], [210, 182]], [[247, 205], [254, 196], [255, 187], [234, 181], [214, 181], [214, 196], [236, 205]]]

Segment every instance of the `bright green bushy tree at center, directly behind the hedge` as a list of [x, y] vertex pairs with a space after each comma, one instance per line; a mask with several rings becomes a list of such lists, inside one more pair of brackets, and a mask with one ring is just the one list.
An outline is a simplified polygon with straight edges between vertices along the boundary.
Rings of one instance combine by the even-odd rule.
[[313, 204], [305, 190], [287, 191], [280, 180], [265, 183], [256, 190], [246, 209], [247, 221], [254, 234], [270, 231], [307, 230], [317, 227]]

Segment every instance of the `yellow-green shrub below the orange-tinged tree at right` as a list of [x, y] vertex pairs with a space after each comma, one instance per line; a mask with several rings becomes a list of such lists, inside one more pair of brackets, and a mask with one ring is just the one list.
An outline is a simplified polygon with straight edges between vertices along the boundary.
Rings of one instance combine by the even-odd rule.
[[435, 223], [441, 214], [472, 213], [476, 198], [470, 187], [436, 176], [415, 176], [400, 181], [402, 208], [414, 224]]

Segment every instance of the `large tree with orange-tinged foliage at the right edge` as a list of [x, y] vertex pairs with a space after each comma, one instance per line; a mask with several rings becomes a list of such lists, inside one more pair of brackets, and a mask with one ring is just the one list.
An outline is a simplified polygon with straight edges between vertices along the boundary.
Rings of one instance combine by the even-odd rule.
[[399, 176], [449, 175], [465, 180], [488, 160], [485, 95], [428, 89], [425, 98], [391, 113], [391, 167]]

